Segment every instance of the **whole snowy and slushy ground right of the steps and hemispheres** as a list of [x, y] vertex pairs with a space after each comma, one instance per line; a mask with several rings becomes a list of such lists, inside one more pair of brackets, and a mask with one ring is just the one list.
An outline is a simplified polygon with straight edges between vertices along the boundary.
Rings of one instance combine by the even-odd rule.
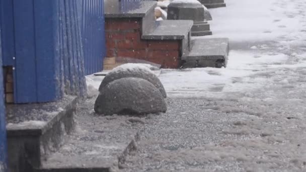
[[228, 66], [162, 70], [168, 112], [142, 119], [124, 171], [306, 171], [306, 1], [226, 5], [210, 24]]

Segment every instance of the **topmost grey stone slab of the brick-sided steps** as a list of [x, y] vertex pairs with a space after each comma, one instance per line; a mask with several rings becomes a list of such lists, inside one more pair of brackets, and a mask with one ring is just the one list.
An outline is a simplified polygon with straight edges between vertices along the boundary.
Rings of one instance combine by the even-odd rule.
[[142, 18], [156, 7], [156, 1], [127, 2], [108, 0], [104, 3], [106, 18]]

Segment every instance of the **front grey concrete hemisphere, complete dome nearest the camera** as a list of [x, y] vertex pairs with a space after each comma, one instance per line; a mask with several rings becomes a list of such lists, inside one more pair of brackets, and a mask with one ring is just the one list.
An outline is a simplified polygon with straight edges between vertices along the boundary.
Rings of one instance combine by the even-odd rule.
[[151, 82], [136, 77], [124, 77], [102, 87], [95, 102], [98, 114], [150, 114], [166, 112], [162, 93]]

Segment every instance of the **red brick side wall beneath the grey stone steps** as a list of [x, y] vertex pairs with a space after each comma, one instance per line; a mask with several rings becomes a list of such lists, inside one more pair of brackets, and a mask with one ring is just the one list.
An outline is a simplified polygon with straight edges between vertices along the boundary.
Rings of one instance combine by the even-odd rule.
[[180, 40], [141, 40], [141, 19], [105, 19], [107, 57], [131, 57], [161, 64], [180, 65]]

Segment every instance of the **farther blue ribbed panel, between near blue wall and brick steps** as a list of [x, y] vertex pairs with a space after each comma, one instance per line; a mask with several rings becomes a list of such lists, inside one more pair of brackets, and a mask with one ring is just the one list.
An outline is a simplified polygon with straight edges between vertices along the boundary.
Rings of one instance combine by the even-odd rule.
[[81, 28], [84, 50], [85, 73], [92, 74], [103, 69], [106, 55], [104, 32], [104, 1], [79, 0], [82, 2]]

